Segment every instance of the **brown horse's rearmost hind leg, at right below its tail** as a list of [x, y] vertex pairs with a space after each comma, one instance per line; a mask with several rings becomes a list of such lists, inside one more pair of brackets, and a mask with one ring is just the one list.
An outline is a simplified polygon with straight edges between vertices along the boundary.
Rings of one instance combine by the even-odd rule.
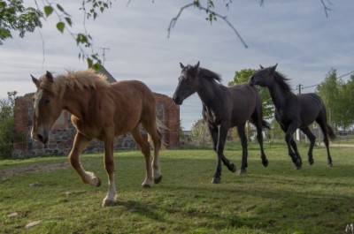
[[159, 163], [159, 152], [161, 148], [162, 134], [161, 132], [158, 131], [156, 124], [151, 125], [150, 127], [144, 126], [144, 128], [146, 129], [146, 131], [148, 131], [152, 139], [152, 142], [154, 144], [154, 157], [151, 162], [152, 178], [154, 180], [154, 183], [158, 184], [162, 180], [162, 174], [161, 174], [160, 163]]

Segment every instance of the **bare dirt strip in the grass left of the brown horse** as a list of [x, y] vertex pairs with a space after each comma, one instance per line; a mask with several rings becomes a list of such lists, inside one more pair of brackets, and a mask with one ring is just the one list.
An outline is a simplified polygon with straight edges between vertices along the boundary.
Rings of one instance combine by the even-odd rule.
[[67, 169], [70, 168], [69, 162], [60, 162], [53, 164], [41, 164], [41, 165], [30, 165], [23, 168], [11, 168], [0, 170], [0, 178], [6, 179], [8, 177], [12, 177], [13, 175], [17, 175], [25, 172], [38, 172], [38, 171], [50, 171], [50, 170], [59, 170], [59, 169]]

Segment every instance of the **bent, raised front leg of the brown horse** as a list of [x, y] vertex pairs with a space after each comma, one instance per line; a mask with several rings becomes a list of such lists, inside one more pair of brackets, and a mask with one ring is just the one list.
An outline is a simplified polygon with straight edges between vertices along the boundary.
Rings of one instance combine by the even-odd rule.
[[84, 170], [79, 159], [81, 152], [85, 149], [85, 147], [87, 147], [89, 141], [90, 140], [83, 136], [81, 133], [77, 132], [73, 140], [73, 148], [70, 151], [68, 158], [70, 164], [72, 165], [73, 169], [77, 171], [83, 183], [99, 186], [101, 185], [101, 180], [96, 177], [93, 172]]

